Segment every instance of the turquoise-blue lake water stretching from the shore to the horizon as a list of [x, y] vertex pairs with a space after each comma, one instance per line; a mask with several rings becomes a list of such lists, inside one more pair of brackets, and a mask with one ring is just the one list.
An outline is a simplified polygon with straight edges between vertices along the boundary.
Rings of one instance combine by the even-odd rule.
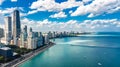
[[114, 48], [120, 47], [120, 33], [57, 38], [55, 43], [19, 67], [120, 67], [120, 48]]

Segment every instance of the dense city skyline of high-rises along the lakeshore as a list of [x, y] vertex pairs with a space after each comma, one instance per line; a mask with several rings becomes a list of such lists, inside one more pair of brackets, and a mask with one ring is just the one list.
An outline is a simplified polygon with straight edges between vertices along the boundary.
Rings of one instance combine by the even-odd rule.
[[[78, 32], [74, 33], [73, 31], [71, 32], [49, 31], [48, 33], [42, 34], [42, 32], [33, 32], [31, 27], [28, 30], [27, 25], [25, 25], [24, 28], [21, 29], [19, 11], [14, 10], [13, 17], [10, 16], [5, 17], [5, 29], [4, 30], [1, 29], [0, 34], [1, 37], [3, 37], [0, 39], [1, 40], [0, 55], [4, 57], [4, 59], [1, 62], [15, 60], [16, 58], [18, 59], [18, 57], [21, 56], [20, 57], [21, 59], [17, 61], [10, 62], [5, 65], [3, 64], [3, 67], [9, 67], [12, 66], [13, 64], [18, 63], [20, 60], [21, 61], [25, 60], [25, 58], [31, 57], [31, 55], [34, 55], [34, 53], [36, 54], [37, 52], [41, 51], [41, 49], [38, 48], [43, 47], [47, 48], [53, 45], [54, 43], [50, 41], [50, 39], [60, 37], [73, 37], [79, 33]], [[15, 52], [13, 52], [14, 49], [16, 49]], [[34, 53], [30, 53], [33, 51]]]

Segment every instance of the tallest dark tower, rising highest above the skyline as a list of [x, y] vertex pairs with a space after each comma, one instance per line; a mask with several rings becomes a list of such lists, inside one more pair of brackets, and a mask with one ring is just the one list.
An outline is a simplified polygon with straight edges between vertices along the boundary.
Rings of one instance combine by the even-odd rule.
[[13, 12], [13, 40], [14, 40], [14, 45], [17, 45], [17, 40], [20, 37], [21, 33], [21, 23], [20, 23], [20, 14], [18, 10], [15, 10]]

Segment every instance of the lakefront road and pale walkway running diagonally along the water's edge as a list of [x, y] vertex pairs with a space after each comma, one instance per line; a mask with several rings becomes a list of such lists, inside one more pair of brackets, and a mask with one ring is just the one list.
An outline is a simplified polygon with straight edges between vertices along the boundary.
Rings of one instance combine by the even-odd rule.
[[48, 44], [48, 45], [45, 45], [37, 50], [33, 50], [25, 55], [22, 55], [20, 58], [17, 58], [11, 62], [8, 62], [8, 63], [5, 63], [5, 64], [2, 64], [2, 66], [0, 67], [18, 67], [20, 64], [22, 64], [23, 62], [31, 59], [32, 57], [38, 55], [39, 53], [45, 51], [46, 49], [50, 48], [51, 46], [53, 46], [54, 43], [51, 43]]

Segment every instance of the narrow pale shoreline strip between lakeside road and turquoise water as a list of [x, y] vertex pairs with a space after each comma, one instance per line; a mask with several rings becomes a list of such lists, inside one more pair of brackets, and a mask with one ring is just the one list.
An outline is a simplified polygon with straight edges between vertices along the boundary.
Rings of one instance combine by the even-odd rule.
[[34, 54], [31, 55], [30, 57], [25, 58], [24, 60], [18, 62], [17, 64], [14, 64], [14, 65], [11, 66], [11, 67], [18, 67], [20, 64], [28, 61], [29, 59], [31, 59], [31, 58], [33, 58], [33, 57], [35, 57], [35, 56], [38, 55], [39, 53], [42, 53], [43, 51], [47, 50], [48, 48], [52, 47], [53, 45], [54, 45], [54, 44], [45, 45], [45, 46], [43, 46], [42, 48], [37, 49], [37, 50], [36, 50], [36, 51], [38, 51], [37, 53], [34, 53]]

